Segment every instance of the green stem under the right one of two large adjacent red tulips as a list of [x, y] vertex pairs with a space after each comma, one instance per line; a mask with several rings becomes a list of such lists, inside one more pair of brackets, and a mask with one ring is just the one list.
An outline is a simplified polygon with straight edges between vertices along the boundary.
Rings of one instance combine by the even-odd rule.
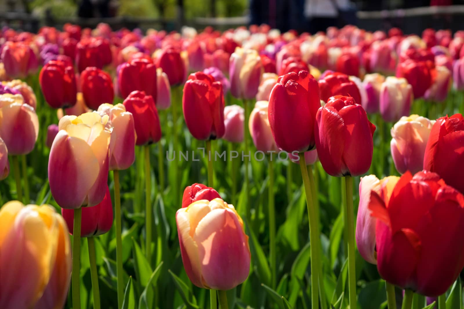
[[356, 308], [356, 261], [354, 257], [354, 209], [353, 209], [353, 177], [345, 176], [346, 185], [346, 222], [348, 242], [348, 291], [350, 309]]

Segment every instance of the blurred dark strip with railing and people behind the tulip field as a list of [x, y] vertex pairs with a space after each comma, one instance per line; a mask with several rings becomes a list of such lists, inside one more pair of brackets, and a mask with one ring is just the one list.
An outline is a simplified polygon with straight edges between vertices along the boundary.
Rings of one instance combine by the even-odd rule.
[[44, 25], [94, 28], [105, 22], [113, 29], [167, 31], [266, 23], [311, 33], [354, 24], [420, 34], [425, 28], [461, 30], [463, 17], [464, 0], [0, 0], [0, 25], [30, 32]]

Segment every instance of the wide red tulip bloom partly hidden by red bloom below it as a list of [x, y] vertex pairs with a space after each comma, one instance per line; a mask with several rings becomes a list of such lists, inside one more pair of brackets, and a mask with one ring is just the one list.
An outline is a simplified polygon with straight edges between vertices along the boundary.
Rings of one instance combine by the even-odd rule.
[[[164, 72], [164, 70], [163, 70]], [[123, 98], [138, 90], [156, 99], [156, 66], [147, 59], [133, 59], [122, 64], [118, 74], [118, 90]]]

